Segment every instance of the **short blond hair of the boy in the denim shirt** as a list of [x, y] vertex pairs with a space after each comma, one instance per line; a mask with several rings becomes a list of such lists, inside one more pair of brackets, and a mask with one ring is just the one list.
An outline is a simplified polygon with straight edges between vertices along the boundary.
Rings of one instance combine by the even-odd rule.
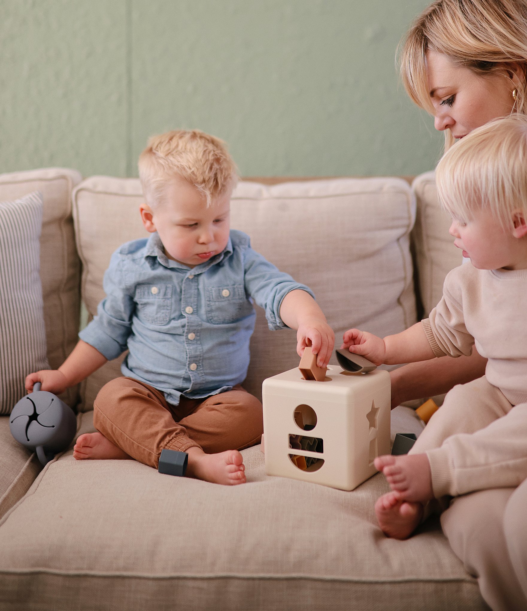
[[236, 166], [225, 143], [199, 130], [153, 136], [139, 156], [139, 179], [150, 207], [157, 205], [171, 178], [180, 177], [212, 200], [236, 185]]

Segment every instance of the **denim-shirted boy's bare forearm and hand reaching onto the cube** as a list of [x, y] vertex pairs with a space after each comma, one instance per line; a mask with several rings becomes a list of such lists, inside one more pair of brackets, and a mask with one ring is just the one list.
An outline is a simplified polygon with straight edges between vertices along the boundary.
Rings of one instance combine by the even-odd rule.
[[325, 367], [335, 345], [335, 334], [309, 293], [301, 289], [289, 291], [280, 304], [280, 318], [291, 329], [298, 329], [296, 351], [302, 356], [305, 346], [313, 346], [316, 364]]

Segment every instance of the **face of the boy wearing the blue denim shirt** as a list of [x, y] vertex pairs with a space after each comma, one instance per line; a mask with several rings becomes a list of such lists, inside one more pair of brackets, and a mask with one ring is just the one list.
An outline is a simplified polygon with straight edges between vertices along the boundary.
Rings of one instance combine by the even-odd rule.
[[205, 196], [194, 185], [174, 178], [154, 210], [141, 205], [141, 218], [147, 231], [159, 233], [167, 257], [193, 268], [227, 246], [230, 198], [231, 190], [207, 208]]

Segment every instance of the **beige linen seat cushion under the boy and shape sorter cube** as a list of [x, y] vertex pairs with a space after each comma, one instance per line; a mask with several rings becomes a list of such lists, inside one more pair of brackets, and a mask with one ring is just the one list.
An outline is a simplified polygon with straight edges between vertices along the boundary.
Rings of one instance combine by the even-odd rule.
[[486, 608], [437, 523], [407, 541], [380, 532], [382, 475], [344, 492], [267, 477], [259, 446], [242, 453], [233, 487], [71, 452], [49, 463], [0, 522], [0, 606]]

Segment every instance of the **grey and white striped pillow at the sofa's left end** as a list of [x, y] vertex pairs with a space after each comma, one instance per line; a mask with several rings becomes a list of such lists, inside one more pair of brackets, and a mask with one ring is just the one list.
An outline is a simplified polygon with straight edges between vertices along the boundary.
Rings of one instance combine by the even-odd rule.
[[28, 373], [48, 369], [40, 284], [42, 195], [0, 202], [0, 414], [26, 394]]

